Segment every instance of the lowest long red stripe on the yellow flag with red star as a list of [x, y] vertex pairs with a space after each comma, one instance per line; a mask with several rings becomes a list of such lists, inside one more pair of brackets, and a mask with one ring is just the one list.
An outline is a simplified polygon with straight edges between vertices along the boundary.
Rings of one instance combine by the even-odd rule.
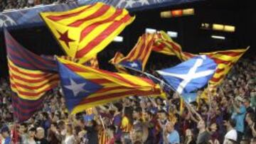
[[112, 32], [114, 32], [123, 23], [126, 23], [127, 21], [129, 21], [130, 18], [131, 17], [129, 16], [129, 14], [127, 14], [126, 16], [124, 16], [124, 18], [122, 18], [122, 20], [114, 21], [108, 28], [105, 29], [105, 31], [100, 33], [100, 35], [97, 35], [95, 40], [90, 41], [90, 43], [88, 43], [88, 45], [85, 45], [84, 48], [79, 50], [76, 53], [76, 57], [78, 57], [78, 58], [83, 57], [85, 54], [87, 54], [87, 52], [90, 52], [90, 50], [92, 50], [93, 48], [95, 48], [97, 45], [100, 44], [99, 42], [101, 42], [102, 40], [105, 40], [105, 38], [107, 38], [107, 36], [109, 36]]

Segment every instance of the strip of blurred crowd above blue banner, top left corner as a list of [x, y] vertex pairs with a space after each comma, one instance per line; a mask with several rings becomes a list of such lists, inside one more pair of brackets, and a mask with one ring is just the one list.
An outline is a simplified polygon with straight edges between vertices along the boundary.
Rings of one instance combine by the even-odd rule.
[[63, 4], [76, 0], [0, 0], [0, 12], [8, 9], [23, 9], [36, 5]]

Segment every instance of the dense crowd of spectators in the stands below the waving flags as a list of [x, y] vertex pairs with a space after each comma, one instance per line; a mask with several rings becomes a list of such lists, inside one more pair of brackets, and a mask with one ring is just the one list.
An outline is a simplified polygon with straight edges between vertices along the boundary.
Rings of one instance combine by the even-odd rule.
[[0, 84], [4, 144], [256, 143], [256, 60], [236, 63], [210, 100], [181, 106], [176, 93], [167, 99], [129, 96], [70, 115], [55, 89], [47, 94], [43, 109], [23, 123], [14, 123], [9, 83], [1, 79]]

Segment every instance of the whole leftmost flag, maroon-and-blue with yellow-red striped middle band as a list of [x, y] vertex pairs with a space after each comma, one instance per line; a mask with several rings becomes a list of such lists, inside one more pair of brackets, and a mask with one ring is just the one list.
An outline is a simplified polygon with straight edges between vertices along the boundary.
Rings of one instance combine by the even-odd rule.
[[4, 29], [14, 116], [26, 121], [43, 107], [44, 94], [58, 86], [57, 64], [54, 60], [26, 50]]

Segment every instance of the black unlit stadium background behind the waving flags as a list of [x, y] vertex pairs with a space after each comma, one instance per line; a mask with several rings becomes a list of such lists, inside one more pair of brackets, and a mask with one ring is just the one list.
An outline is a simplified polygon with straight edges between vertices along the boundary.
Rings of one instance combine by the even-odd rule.
[[[133, 48], [145, 28], [155, 28], [164, 31], [177, 31], [178, 38], [174, 40], [179, 43], [186, 52], [210, 52], [214, 50], [228, 50], [246, 48], [250, 45], [243, 57], [255, 57], [255, 33], [256, 33], [256, 10], [250, 1], [238, 0], [212, 0], [200, 1], [180, 6], [167, 6], [161, 9], [149, 9], [145, 11], [132, 11], [136, 15], [134, 23], [127, 26], [121, 33], [124, 37], [123, 43], [111, 43], [105, 48], [98, 58], [100, 67], [105, 70], [114, 70], [108, 64], [117, 50], [127, 55]], [[171, 9], [194, 8], [194, 16], [183, 16], [180, 18], [160, 18], [160, 12]], [[235, 33], [223, 33], [201, 29], [201, 23], [220, 23], [235, 26]], [[23, 28], [11, 30], [11, 35], [21, 45], [38, 55], [63, 55], [58, 43], [51, 35], [46, 26]], [[210, 38], [210, 35], [223, 35], [225, 40]], [[177, 62], [176, 57], [157, 54], [152, 52], [146, 67]], [[160, 68], [157, 67], [157, 68]], [[166, 66], [166, 65], [165, 65]], [[6, 50], [3, 32], [0, 33], [0, 77], [8, 74], [6, 66]]]

